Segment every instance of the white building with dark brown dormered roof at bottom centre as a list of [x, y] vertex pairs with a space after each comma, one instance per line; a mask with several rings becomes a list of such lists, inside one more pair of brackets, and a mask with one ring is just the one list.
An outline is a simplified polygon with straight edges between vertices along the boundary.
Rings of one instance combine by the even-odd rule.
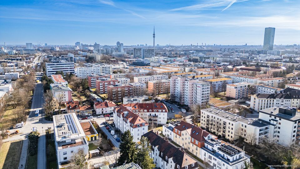
[[143, 135], [148, 138], [151, 152], [150, 157], [158, 168], [168, 169], [197, 169], [198, 163], [178, 147], [155, 134], [153, 131]]

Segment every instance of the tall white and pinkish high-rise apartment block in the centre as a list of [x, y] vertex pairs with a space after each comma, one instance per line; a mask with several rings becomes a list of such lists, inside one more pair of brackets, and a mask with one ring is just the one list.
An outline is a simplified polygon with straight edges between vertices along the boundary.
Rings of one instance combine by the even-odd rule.
[[206, 105], [209, 102], [210, 84], [198, 80], [188, 80], [172, 76], [170, 82], [170, 96], [184, 105]]

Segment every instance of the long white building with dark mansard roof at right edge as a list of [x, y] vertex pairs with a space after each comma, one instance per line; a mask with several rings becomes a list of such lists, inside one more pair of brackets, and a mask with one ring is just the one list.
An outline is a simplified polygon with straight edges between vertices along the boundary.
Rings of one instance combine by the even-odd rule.
[[271, 107], [300, 107], [300, 90], [287, 93], [255, 94], [251, 96], [250, 108], [259, 111]]

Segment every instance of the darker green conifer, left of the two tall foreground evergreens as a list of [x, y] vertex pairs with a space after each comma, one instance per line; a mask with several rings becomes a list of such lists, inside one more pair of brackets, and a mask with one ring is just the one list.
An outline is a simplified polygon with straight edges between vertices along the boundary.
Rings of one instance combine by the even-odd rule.
[[122, 143], [120, 144], [120, 157], [118, 159], [118, 166], [134, 162], [137, 149], [135, 147], [135, 142], [133, 142], [133, 136], [131, 136], [130, 131], [127, 130], [122, 136]]

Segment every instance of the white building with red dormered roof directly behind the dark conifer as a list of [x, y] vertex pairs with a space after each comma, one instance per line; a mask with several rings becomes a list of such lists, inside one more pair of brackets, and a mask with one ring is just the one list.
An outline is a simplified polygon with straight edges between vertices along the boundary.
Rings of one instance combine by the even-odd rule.
[[140, 141], [143, 134], [148, 132], [148, 123], [143, 118], [131, 111], [131, 107], [119, 105], [114, 109], [113, 122], [122, 133], [129, 130], [133, 141]]

